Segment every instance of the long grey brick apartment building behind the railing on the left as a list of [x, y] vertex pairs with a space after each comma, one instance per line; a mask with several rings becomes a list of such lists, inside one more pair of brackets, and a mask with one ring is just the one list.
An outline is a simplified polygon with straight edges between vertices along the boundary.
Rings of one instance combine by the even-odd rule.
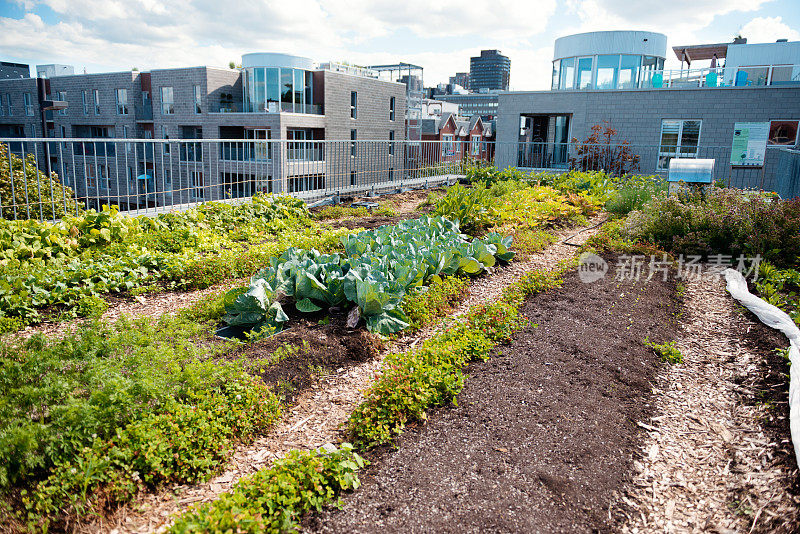
[[[45, 137], [170, 140], [53, 142], [52, 169], [79, 196], [123, 207], [385, 181], [375, 174], [403, 170], [390, 141], [404, 137], [406, 87], [346, 67], [259, 53], [244, 55], [241, 69], [48, 76], [47, 99], [68, 107], [45, 112]], [[0, 138], [42, 136], [36, 84], [0, 79]], [[380, 169], [356, 140], [383, 141]], [[43, 157], [34, 143], [11, 145]]]

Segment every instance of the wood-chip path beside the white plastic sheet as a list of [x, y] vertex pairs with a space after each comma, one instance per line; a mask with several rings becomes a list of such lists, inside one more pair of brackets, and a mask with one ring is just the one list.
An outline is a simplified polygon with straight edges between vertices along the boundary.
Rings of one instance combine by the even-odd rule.
[[[633, 513], [623, 531], [800, 531], [800, 499], [791, 491], [800, 478], [791, 453], [781, 452], [786, 405], [776, 416], [758, 403], [765, 347], [748, 342], [758, 333], [774, 348], [785, 338], [740, 311], [717, 277], [687, 281], [684, 302], [685, 361], [657, 381], [657, 413], [624, 498]], [[776, 417], [783, 432], [762, 424]]]

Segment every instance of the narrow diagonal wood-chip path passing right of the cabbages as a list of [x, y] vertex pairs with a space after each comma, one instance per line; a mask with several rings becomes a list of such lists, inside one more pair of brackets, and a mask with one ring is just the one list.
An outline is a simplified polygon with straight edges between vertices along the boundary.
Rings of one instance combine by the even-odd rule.
[[[597, 224], [601, 218], [590, 221], [589, 226]], [[559, 261], [575, 254], [575, 247], [561, 244], [560, 241], [581, 232], [584, 228], [558, 232], [559, 242], [539, 254], [513, 262], [509, 267], [498, 270], [493, 276], [483, 277], [473, 282], [469, 294], [455, 313], [464, 313], [470, 306], [481, 301], [496, 299], [503, 288], [533, 268], [552, 268]], [[581, 232], [571, 241], [583, 243], [598, 228]], [[420, 340], [433, 335], [435, 329], [425, 329], [416, 335], [405, 336], [388, 347], [383, 354], [413, 346]], [[268, 435], [253, 444], [240, 448], [230, 462], [227, 470], [211, 481], [190, 487], [164, 490], [156, 494], [144, 494], [131, 506], [120, 510], [102, 525], [93, 524], [88, 531], [144, 533], [160, 531], [169, 524], [173, 514], [185, 510], [189, 505], [214, 500], [227, 491], [244, 475], [252, 473], [283, 456], [292, 449], [310, 449], [340, 438], [340, 425], [345, 422], [353, 409], [364, 399], [361, 391], [366, 389], [378, 376], [381, 358], [361, 363], [354, 367], [340, 368], [335, 373], [322, 377], [320, 382], [305, 392], [297, 404]], [[174, 490], [174, 491], [173, 491]]]

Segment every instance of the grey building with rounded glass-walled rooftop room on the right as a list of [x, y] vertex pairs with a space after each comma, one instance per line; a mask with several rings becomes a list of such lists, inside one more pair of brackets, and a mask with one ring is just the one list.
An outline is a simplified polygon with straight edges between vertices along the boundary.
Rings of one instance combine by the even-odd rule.
[[616, 132], [612, 143], [629, 143], [639, 172], [665, 174], [675, 157], [713, 158], [716, 179], [770, 188], [780, 149], [798, 143], [800, 42], [672, 53], [685, 68], [664, 69], [667, 38], [658, 33], [558, 39], [550, 91], [499, 95], [498, 163], [566, 168], [573, 141], [585, 142], [600, 125]]

